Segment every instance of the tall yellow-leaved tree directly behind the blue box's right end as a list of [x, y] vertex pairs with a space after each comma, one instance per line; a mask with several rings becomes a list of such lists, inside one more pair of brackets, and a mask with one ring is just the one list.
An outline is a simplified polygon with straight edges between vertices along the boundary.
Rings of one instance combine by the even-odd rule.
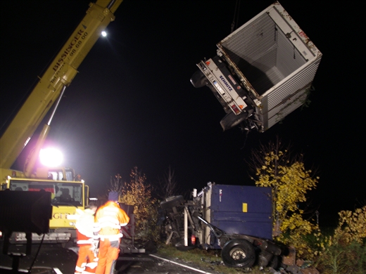
[[305, 235], [317, 229], [317, 225], [303, 218], [300, 204], [306, 202], [306, 193], [317, 185], [318, 177], [306, 170], [300, 157], [292, 157], [277, 143], [252, 153], [255, 167], [255, 185], [272, 188], [272, 218], [274, 239], [293, 245], [301, 256], [312, 254]]

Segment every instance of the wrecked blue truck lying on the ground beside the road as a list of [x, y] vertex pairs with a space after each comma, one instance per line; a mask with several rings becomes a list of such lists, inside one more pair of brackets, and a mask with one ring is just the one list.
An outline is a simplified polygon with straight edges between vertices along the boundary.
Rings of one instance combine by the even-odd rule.
[[170, 197], [160, 203], [165, 214], [166, 244], [177, 249], [222, 249], [231, 267], [278, 268], [286, 249], [272, 242], [271, 188], [216, 185], [192, 193], [192, 200]]

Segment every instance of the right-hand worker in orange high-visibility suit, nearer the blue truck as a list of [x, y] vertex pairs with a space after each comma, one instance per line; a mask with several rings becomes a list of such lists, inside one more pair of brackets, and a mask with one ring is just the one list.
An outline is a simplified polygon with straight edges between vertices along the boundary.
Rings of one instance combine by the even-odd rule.
[[99, 235], [98, 266], [96, 274], [113, 274], [115, 261], [120, 254], [122, 226], [127, 226], [130, 217], [120, 208], [117, 192], [108, 194], [108, 202], [103, 204], [95, 214], [95, 230]]

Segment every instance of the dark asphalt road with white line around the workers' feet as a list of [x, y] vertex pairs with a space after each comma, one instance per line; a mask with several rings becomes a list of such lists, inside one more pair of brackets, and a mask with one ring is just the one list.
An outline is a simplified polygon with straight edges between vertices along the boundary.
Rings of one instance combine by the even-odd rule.
[[[39, 244], [32, 246], [30, 256], [8, 256], [3, 254], [4, 241], [0, 241], [0, 273], [8, 271], [5, 268], [11, 269], [12, 263], [19, 259], [18, 269], [29, 270], [33, 264], [32, 273], [44, 274], [72, 274], [75, 271], [75, 263], [77, 254], [72, 249], [63, 249], [61, 244], [44, 244], [39, 249], [37, 259], [34, 258], [37, 254]], [[24, 245], [11, 245], [9, 252], [25, 253]], [[34, 261], [34, 262], [33, 262]], [[174, 259], [161, 258], [157, 254], [121, 254], [115, 266], [115, 274], [198, 274], [198, 273], [217, 273], [214, 270], [197, 268], [188, 263]]]

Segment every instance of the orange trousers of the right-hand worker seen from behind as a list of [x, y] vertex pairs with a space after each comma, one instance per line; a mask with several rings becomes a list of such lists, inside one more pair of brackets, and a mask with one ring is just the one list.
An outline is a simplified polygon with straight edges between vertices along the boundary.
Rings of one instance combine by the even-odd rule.
[[115, 270], [115, 261], [120, 254], [120, 238], [110, 241], [108, 239], [100, 239], [98, 266], [96, 266], [96, 274], [113, 274]]

